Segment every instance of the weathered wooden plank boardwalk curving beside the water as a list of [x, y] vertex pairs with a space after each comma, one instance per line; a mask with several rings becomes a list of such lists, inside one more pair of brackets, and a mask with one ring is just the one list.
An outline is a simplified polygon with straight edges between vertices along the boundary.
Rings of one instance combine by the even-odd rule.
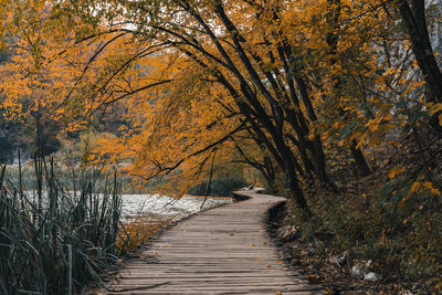
[[266, 233], [265, 213], [283, 199], [236, 193], [250, 199], [166, 231], [99, 294], [320, 294], [281, 261]]

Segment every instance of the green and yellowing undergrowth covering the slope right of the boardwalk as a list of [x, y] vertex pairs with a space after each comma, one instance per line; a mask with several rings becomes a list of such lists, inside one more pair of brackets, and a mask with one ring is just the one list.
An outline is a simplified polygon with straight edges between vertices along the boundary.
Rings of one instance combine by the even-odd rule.
[[425, 164], [421, 155], [403, 147], [396, 159], [366, 178], [339, 185], [338, 191], [311, 191], [313, 217], [305, 219], [291, 204], [285, 222], [296, 224], [301, 239], [315, 245], [324, 259], [347, 251], [352, 260], [349, 267], [371, 260], [383, 282], [427, 284], [438, 294], [442, 291], [442, 161], [439, 152], [432, 155]]

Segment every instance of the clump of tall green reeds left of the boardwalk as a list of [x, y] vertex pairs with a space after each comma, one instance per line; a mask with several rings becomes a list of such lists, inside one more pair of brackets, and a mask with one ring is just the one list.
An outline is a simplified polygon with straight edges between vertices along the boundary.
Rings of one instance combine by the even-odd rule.
[[73, 193], [57, 180], [53, 160], [35, 157], [32, 190], [23, 189], [20, 165], [18, 180], [6, 169], [0, 167], [0, 294], [64, 295], [103, 283], [120, 254], [116, 175], [85, 171]]

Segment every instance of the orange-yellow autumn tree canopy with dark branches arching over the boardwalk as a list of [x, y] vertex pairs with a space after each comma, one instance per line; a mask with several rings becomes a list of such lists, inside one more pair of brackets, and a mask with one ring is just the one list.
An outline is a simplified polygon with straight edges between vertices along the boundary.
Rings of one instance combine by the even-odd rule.
[[367, 154], [393, 148], [419, 124], [440, 134], [436, 18], [428, 17], [438, 4], [81, 0], [1, 9], [11, 53], [4, 116], [38, 114], [74, 131], [119, 105], [118, 137], [103, 140], [95, 159], [144, 180], [190, 183], [213, 160], [244, 162], [269, 183], [281, 171], [308, 212], [305, 187], [341, 185], [330, 176], [336, 150], [364, 177], [378, 165]]

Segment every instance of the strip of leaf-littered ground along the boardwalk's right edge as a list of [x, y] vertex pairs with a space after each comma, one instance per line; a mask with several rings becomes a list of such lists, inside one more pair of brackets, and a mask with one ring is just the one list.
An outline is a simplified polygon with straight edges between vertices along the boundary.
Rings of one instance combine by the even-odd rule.
[[428, 284], [420, 282], [401, 282], [397, 277], [378, 277], [376, 282], [369, 282], [364, 280], [364, 275], [356, 276], [351, 266], [357, 261], [355, 253], [347, 254], [343, 261], [337, 262], [339, 259], [332, 254], [333, 250], [327, 249], [325, 243], [305, 242], [293, 232], [287, 236], [287, 225], [283, 223], [285, 214], [285, 202], [269, 212], [271, 235], [280, 245], [285, 262], [296, 270], [301, 268], [309, 283], [322, 285], [326, 294], [438, 294], [430, 292]]

